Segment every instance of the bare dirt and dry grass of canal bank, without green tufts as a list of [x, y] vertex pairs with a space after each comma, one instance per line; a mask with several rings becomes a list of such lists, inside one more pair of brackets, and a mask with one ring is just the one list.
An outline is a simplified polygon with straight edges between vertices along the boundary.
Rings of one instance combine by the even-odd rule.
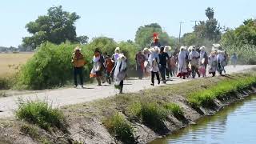
[[[67, 131], [53, 128], [50, 132], [38, 126], [15, 119], [2, 119], [0, 122], [0, 143], [122, 143], [115, 134], [110, 134], [104, 122], [113, 114], [121, 114], [129, 122], [135, 142], [146, 143], [170, 134], [190, 123], [196, 122], [204, 115], [215, 114], [223, 106], [241, 100], [248, 94], [256, 93], [255, 86], [230, 93], [222, 98], [215, 98], [211, 106], [193, 108], [187, 100], [187, 94], [206, 90], [218, 82], [227, 79], [246, 78], [246, 74], [235, 74], [228, 77], [196, 79], [176, 85], [158, 87], [153, 90], [142, 90], [137, 94], [122, 94], [95, 102], [87, 102], [62, 107], [68, 125]], [[168, 114], [162, 121], [160, 129], [150, 126], [145, 121], [130, 117], [130, 105], [134, 102], [172, 102], [182, 108], [182, 117]], [[157, 116], [155, 118], [158, 118]]]

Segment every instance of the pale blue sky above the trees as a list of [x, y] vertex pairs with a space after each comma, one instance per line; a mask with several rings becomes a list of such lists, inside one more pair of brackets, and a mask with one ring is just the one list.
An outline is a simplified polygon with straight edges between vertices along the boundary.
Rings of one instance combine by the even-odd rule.
[[221, 26], [230, 28], [244, 19], [256, 18], [254, 0], [4, 0], [0, 3], [0, 46], [18, 46], [28, 36], [26, 23], [46, 14], [50, 6], [76, 12], [77, 34], [90, 38], [107, 36], [116, 41], [134, 40], [139, 26], [158, 22], [166, 32], [178, 37], [192, 31], [192, 20], [206, 20], [206, 7], [213, 7]]

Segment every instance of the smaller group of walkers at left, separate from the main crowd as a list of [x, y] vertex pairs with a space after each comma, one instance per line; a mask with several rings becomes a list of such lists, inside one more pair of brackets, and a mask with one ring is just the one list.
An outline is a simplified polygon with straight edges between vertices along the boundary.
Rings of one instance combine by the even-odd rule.
[[[74, 66], [74, 88], [78, 86], [78, 75], [83, 88], [82, 70], [86, 62], [79, 47], [74, 49], [71, 62]], [[91, 62], [93, 66], [90, 71], [90, 78], [96, 78], [98, 86], [102, 86], [102, 83], [105, 82], [111, 84], [111, 82], [114, 81], [114, 86], [116, 86], [122, 94], [123, 80], [126, 78], [126, 57], [124, 54], [120, 53], [120, 48], [117, 47], [112, 56], [102, 54], [97, 48], [94, 50], [94, 57]]]

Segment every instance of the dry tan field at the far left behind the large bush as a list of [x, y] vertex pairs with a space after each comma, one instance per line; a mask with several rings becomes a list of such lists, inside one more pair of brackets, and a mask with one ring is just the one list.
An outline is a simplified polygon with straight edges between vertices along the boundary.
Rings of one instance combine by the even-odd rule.
[[14, 74], [33, 54], [0, 54], [0, 78]]

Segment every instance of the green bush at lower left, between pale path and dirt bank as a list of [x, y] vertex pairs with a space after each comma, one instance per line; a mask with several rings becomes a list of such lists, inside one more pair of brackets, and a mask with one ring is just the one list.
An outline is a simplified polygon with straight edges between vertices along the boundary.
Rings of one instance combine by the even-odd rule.
[[20, 100], [18, 110], [15, 111], [18, 119], [30, 122], [50, 130], [56, 126], [60, 130], [65, 130], [65, 118], [60, 110], [53, 109], [47, 102], [23, 102]]

